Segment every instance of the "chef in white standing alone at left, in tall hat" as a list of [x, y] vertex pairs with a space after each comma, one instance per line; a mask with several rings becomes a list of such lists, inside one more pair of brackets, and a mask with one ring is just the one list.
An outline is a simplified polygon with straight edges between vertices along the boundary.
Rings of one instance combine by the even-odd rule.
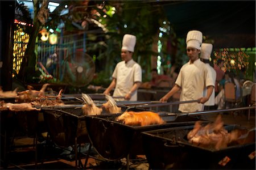
[[104, 91], [104, 94], [110, 94], [115, 88], [113, 97], [124, 97], [119, 100], [137, 101], [137, 90], [142, 83], [141, 66], [133, 60], [134, 46], [136, 37], [126, 34], [123, 36], [121, 58], [112, 74], [112, 82]]

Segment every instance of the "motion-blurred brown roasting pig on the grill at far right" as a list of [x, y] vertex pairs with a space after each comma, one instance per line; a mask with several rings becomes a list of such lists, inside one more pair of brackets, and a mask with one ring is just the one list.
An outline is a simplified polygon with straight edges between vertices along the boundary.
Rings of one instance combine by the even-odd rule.
[[200, 121], [197, 121], [193, 130], [187, 134], [188, 141], [196, 146], [216, 150], [225, 148], [229, 143], [236, 141], [241, 133], [238, 130], [228, 133], [223, 124], [220, 114], [212, 124], [206, 126], [202, 126]]

